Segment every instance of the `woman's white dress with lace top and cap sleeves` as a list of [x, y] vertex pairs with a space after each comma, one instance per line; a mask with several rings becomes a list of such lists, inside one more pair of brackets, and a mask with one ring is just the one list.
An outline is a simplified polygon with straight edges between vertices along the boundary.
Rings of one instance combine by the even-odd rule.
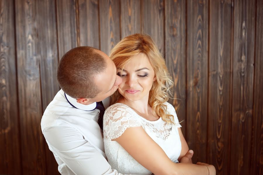
[[178, 133], [179, 124], [174, 107], [168, 102], [167, 113], [174, 115], [174, 124], [164, 122], [162, 118], [149, 121], [138, 115], [129, 106], [116, 103], [108, 107], [103, 117], [103, 135], [105, 153], [113, 169], [122, 174], [152, 174], [127, 153], [117, 141], [128, 127], [141, 126], [146, 133], [165, 151], [173, 161], [178, 162], [181, 153], [181, 141]]

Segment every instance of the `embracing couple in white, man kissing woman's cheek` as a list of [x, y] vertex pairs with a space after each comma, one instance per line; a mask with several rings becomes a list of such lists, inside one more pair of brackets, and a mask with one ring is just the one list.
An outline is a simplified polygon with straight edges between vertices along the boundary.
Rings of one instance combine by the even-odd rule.
[[216, 174], [213, 165], [192, 164], [167, 102], [173, 81], [150, 36], [123, 38], [110, 57], [74, 48], [61, 58], [57, 78], [61, 90], [41, 129], [60, 174]]

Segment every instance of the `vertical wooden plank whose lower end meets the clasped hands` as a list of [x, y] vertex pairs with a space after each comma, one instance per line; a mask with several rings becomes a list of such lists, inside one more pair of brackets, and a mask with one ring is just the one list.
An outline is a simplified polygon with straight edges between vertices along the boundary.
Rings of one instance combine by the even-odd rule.
[[187, 1], [187, 140], [193, 162], [207, 162], [208, 0]]

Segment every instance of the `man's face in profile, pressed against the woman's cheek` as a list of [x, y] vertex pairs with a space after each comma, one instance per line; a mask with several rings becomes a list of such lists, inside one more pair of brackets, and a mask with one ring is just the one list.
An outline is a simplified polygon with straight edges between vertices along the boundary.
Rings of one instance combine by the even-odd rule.
[[122, 78], [116, 74], [116, 67], [113, 61], [102, 51], [98, 50], [97, 52], [105, 58], [107, 67], [103, 73], [94, 76], [94, 81], [101, 92], [95, 98], [89, 99], [93, 102], [102, 101], [109, 97], [118, 89], [119, 84], [122, 83]]

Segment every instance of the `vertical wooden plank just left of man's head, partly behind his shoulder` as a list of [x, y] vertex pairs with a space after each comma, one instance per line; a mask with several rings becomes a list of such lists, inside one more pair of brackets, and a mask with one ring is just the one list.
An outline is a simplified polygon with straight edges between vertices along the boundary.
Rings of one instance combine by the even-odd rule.
[[[60, 89], [56, 78], [58, 66], [56, 3], [53, 0], [45, 0], [37, 1], [36, 5], [38, 14], [36, 16], [36, 39], [41, 42], [36, 43], [35, 47], [37, 54], [39, 54], [42, 112], [44, 112], [46, 106], [53, 100]], [[55, 157], [49, 150], [45, 139], [43, 142], [46, 155], [46, 174], [59, 174]]]

